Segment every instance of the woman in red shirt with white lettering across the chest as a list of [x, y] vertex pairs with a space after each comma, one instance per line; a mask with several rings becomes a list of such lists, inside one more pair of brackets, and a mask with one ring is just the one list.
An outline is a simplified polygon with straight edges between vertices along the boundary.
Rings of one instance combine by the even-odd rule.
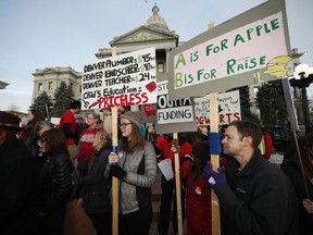
[[82, 176], [86, 176], [88, 173], [88, 163], [95, 153], [92, 144], [96, 138], [96, 134], [100, 131], [103, 131], [103, 128], [98, 125], [99, 120], [99, 114], [88, 114], [88, 128], [83, 131], [79, 143], [77, 145], [77, 151], [74, 158], [74, 166], [78, 169]]

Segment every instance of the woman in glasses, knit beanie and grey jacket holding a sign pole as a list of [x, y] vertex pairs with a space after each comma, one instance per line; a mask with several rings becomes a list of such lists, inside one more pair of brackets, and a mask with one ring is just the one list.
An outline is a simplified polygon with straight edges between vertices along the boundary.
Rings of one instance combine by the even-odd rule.
[[139, 131], [141, 119], [138, 111], [121, 115], [120, 152], [111, 152], [105, 170], [107, 176], [120, 180], [120, 235], [148, 235], [152, 222], [151, 186], [156, 175], [156, 157], [152, 144]]

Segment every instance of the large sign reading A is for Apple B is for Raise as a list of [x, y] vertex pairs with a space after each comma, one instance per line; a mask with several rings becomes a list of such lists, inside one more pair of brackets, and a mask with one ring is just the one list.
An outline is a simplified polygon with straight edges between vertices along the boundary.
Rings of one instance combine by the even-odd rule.
[[285, 1], [267, 1], [172, 50], [170, 99], [287, 76], [290, 54]]

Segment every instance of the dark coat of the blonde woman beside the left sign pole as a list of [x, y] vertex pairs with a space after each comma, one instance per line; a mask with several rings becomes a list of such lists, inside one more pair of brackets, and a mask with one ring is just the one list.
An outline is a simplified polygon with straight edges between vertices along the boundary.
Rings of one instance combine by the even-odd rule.
[[87, 214], [111, 211], [109, 183], [104, 176], [110, 152], [109, 149], [104, 149], [89, 161], [88, 174], [83, 180], [80, 191]]

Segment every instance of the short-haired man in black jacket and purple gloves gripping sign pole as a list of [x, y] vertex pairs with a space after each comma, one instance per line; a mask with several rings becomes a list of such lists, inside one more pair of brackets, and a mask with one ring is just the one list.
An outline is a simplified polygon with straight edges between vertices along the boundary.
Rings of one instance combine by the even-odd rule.
[[222, 141], [233, 157], [218, 173], [208, 161], [204, 175], [218, 197], [222, 234], [295, 235], [298, 232], [297, 199], [289, 180], [262, 158], [258, 146], [261, 128], [249, 121], [229, 123]]

